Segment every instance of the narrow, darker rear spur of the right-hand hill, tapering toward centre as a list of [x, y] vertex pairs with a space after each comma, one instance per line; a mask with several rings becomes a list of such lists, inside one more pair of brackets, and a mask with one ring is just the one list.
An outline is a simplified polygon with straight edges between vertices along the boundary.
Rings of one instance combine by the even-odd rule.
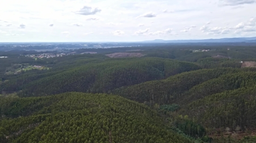
[[148, 81], [130, 87], [121, 87], [114, 90], [113, 93], [141, 103], [170, 104], [179, 100], [182, 93], [202, 82], [239, 71], [241, 70], [238, 68], [199, 69], [170, 76], [164, 80]]

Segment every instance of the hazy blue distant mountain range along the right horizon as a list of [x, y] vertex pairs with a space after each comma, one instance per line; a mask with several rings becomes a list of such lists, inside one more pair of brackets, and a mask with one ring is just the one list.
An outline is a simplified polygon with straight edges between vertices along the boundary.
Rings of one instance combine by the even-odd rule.
[[202, 40], [148, 40], [139, 43], [256, 43], [256, 37], [239, 37], [239, 38], [221, 38], [221, 39], [202, 39]]

